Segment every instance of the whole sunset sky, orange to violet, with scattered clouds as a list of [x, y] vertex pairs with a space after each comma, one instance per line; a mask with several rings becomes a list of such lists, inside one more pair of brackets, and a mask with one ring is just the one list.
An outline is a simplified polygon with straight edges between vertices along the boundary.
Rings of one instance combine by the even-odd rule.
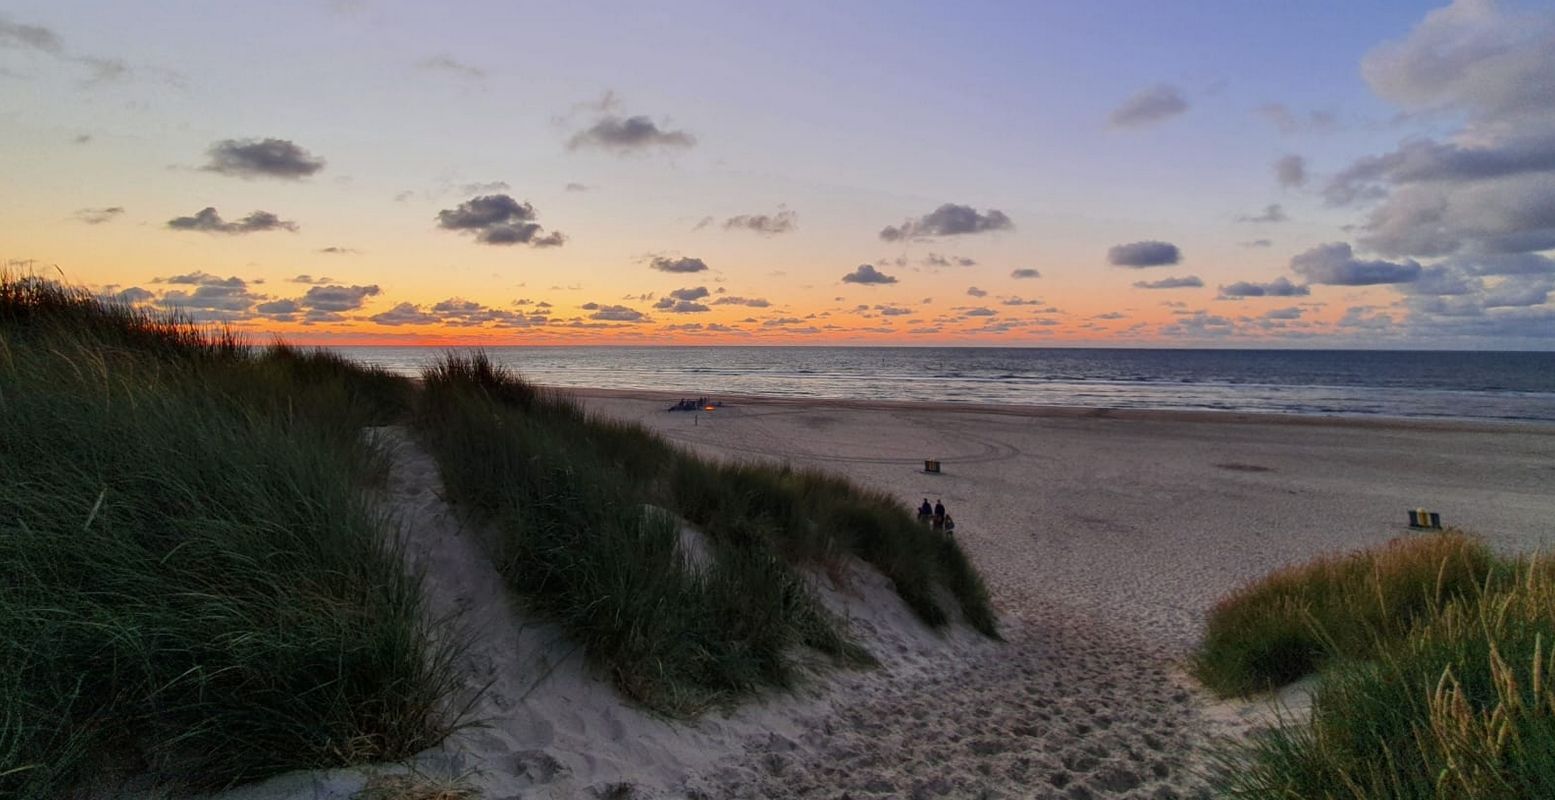
[[299, 344], [1555, 349], [1555, 5], [0, 0], [0, 260]]

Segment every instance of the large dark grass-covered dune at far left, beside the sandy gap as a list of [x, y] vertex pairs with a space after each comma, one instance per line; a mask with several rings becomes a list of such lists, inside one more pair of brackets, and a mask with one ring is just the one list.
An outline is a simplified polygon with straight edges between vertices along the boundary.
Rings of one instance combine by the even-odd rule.
[[412, 389], [0, 279], [0, 795], [440, 741], [453, 643], [362, 493]]

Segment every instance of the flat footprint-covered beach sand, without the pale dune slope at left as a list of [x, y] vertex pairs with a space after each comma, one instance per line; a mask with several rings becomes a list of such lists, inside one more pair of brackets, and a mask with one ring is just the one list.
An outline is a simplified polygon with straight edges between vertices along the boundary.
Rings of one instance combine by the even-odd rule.
[[843, 679], [798, 741], [706, 774], [714, 797], [1199, 797], [1205, 744], [1256, 716], [1180, 671], [1216, 598], [1407, 535], [1420, 506], [1507, 551], [1555, 535], [1555, 426], [578, 397], [698, 453], [942, 500], [1005, 615], [1003, 646]]

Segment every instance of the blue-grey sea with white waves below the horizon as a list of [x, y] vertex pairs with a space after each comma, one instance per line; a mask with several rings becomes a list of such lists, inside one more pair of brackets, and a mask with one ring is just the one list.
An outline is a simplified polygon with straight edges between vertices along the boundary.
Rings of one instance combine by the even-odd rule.
[[[337, 347], [406, 375], [434, 347]], [[1026, 347], [487, 347], [552, 386], [1555, 422], [1555, 353]]]

